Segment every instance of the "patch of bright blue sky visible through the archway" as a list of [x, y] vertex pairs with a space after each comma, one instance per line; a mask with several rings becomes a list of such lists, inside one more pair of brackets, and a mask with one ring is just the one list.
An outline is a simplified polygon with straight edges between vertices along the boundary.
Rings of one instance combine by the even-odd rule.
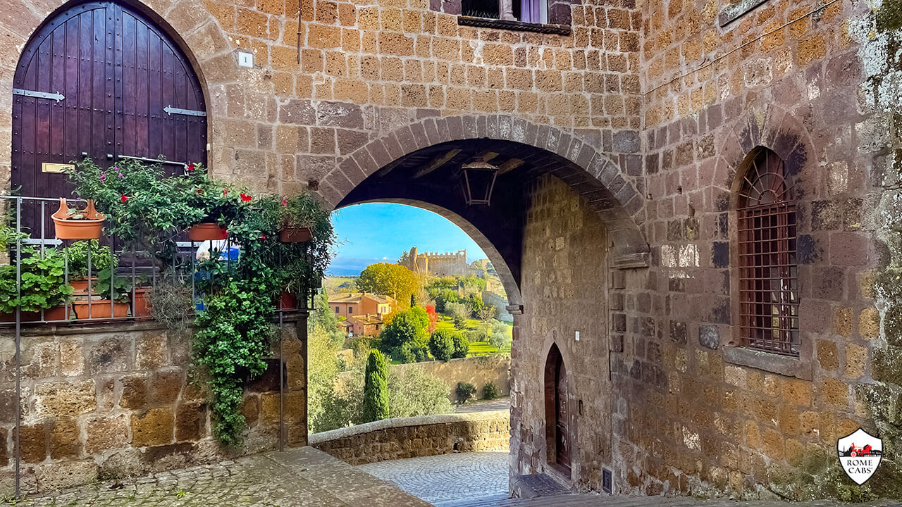
[[466, 249], [467, 260], [485, 253], [445, 217], [403, 204], [367, 203], [343, 207], [332, 214], [338, 236], [336, 259], [328, 272], [356, 275], [372, 263], [395, 263], [416, 246], [420, 252], [456, 252]]

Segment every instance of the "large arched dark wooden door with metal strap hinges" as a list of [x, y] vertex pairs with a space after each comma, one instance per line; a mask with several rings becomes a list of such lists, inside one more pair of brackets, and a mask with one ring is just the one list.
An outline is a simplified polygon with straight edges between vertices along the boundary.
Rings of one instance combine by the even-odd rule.
[[[179, 47], [129, 7], [90, 2], [52, 15], [23, 50], [13, 93], [11, 179], [19, 195], [71, 194], [65, 175], [42, 171], [44, 162], [84, 155], [105, 166], [123, 156], [206, 162], [198, 78]], [[40, 214], [39, 205], [23, 209], [23, 221], [40, 226]]]

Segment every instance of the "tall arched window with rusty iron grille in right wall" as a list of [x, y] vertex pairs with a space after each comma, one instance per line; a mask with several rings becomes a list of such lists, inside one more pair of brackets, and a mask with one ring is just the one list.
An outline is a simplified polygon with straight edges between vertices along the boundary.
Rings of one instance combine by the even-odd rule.
[[737, 201], [742, 346], [799, 355], [796, 200], [777, 153], [746, 159]]

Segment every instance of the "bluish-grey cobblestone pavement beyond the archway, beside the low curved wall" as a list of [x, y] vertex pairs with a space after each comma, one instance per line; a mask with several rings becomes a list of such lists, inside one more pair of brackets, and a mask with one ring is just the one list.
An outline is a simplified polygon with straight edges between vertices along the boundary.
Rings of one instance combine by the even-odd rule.
[[410, 457], [357, 466], [431, 503], [507, 496], [508, 453]]

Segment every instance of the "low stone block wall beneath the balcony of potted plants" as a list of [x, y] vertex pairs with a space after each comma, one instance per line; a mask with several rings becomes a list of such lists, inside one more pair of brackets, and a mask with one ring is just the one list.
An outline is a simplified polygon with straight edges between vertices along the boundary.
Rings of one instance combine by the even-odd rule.
[[[306, 371], [285, 327], [289, 445], [306, 445]], [[25, 327], [22, 338], [23, 493], [143, 475], [276, 447], [278, 360], [247, 384], [241, 450], [211, 437], [207, 392], [189, 378], [189, 337], [151, 323]], [[14, 336], [0, 340], [0, 497], [13, 493]]]

